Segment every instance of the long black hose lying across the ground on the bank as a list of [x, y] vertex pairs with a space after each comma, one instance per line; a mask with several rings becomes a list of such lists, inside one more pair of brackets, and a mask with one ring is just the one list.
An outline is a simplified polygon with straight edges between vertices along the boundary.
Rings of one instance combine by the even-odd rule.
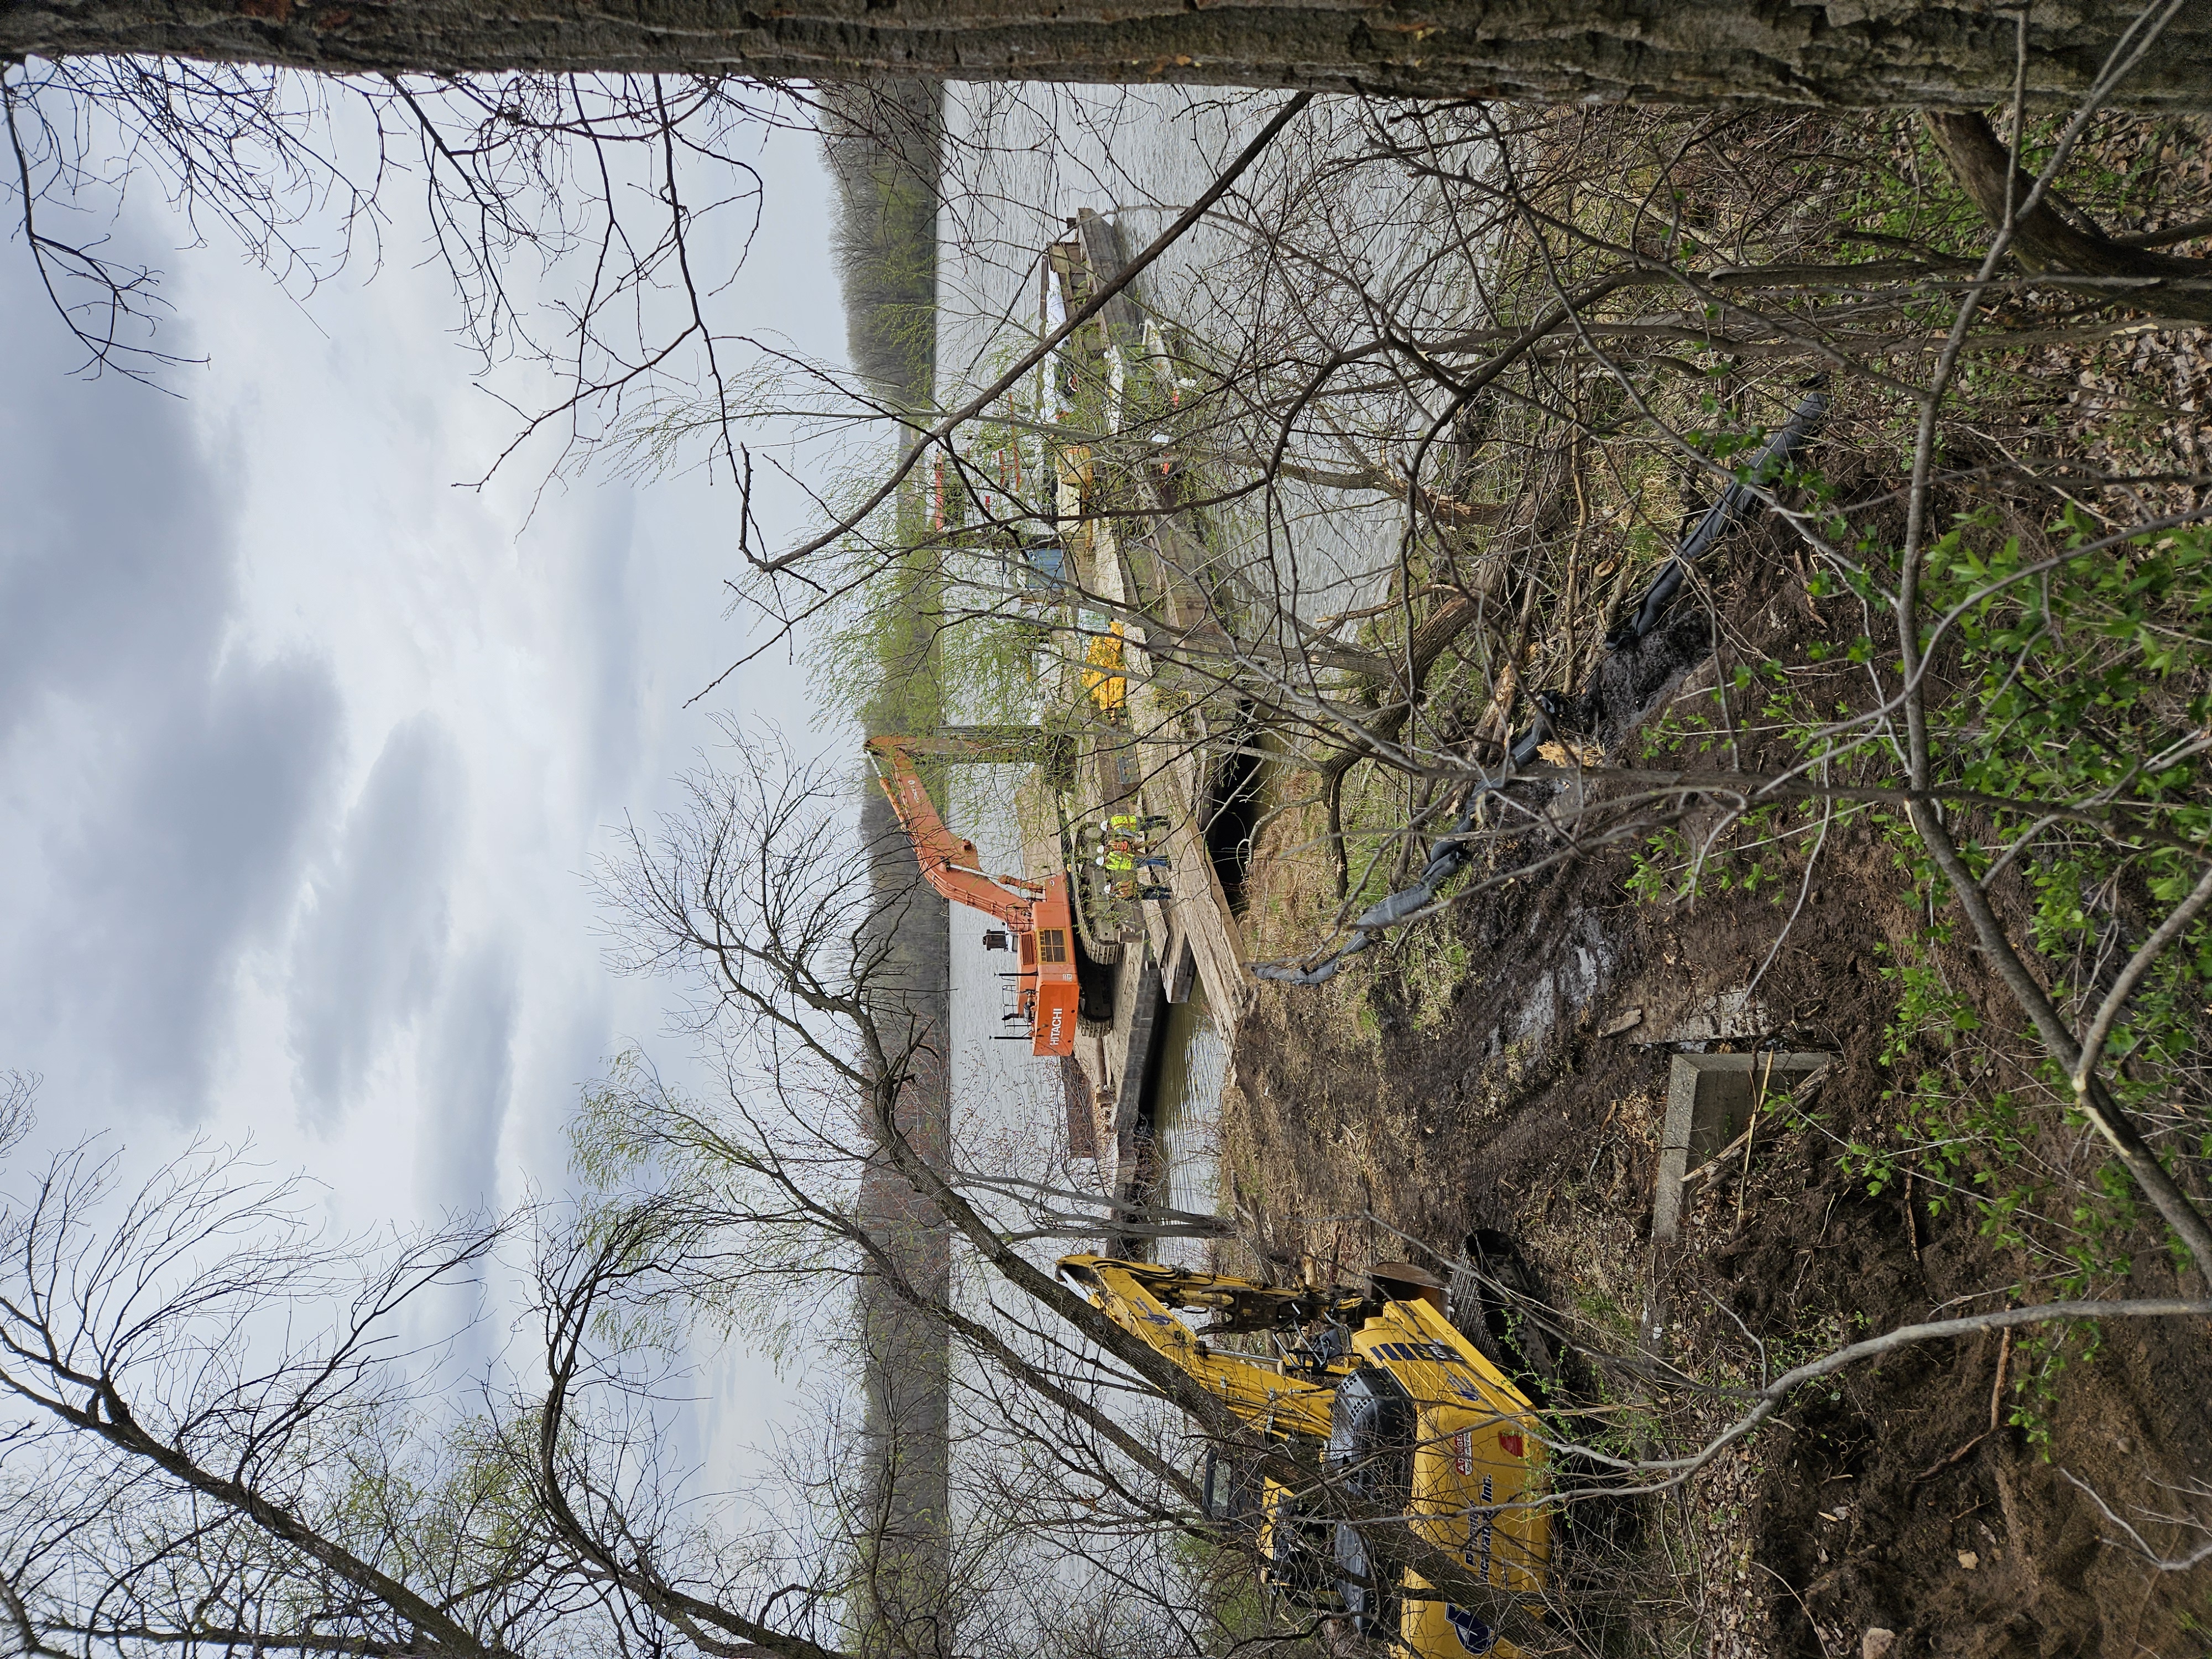
[[[1652, 577], [1652, 584], [1644, 591], [1635, 606], [1624, 606], [1624, 619], [1613, 628], [1613, 633], [1606, 635], [1608, 653], [1635, 646], [1659, 626], [1690, 568], [1714, 549], [1721, 535], [1725, 535], [1728, 529], [1752, 509], [1752, 504], [1759, 502], [1756, 487], [1772, 482], [1774, 473], [1778, 473], [1790, 458], [1805, 447], [1805, 440], [1812, 436], [1812, 429], [1820, 425], [1820, 416], [1825, 414], [1827, 392], [1816, 380], [1814, 387], [1798, 400], [1790, 420], [1767, 436], [1765, 447], [1761, 447], [1743, 478], [1730, 484], [1721, 493], [1721, 500], [1699, 515], [1697, 524], [1674, 549], [1674, 557], [1666, 562], [1657, 577]], [[1586, 712], [1593, 697], [1595, 692], [1568, 703], [1566, 699], [1548, 692], [1540, 695], [1540, 712], [1535, 721], [1528, 723], [1526, 732], [1513, 739], [1513, 745], [1506, 752], [1506, 765], [1498, 772], [1498, 776], [1480, 779], [1475, 783], [1473, 792], [1467, 796], [1467, 807], [1460, 812], [1460, 821], [1451, 825], [1449, 834], [1438, 838], [1433, 852], [1429, 854], [1429, 865], [1420, 872], [1420, 880], [1360, 911], [1360, 918], [1352, 925], [1352, 936], [1318, 962], [1254, 962], [1252, 973], [1283, 984], [1323, 984], [1336, 978], [1336, 971], [1354, 956], [1380, 945], [1389, 929], [1411, 920], [1433, 905], [1436, 891], [1460, 874], [1460, 867], [1473, 852], [1471, 836], [1482, 801], [1506, 787], [1515, 772], [1537, 757], [1537, 750], [1544, 745], [1553, 726], [1573, 723], [1571, 717], [1575, 712]]]

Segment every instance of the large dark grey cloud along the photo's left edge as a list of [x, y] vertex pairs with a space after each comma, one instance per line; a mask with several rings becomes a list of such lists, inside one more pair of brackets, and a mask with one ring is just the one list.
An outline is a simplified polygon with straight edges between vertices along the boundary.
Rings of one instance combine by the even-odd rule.
[[204, 1115], [241, 956], [327, 805], [338, 688], [232, 653], [232, 480], [188, 411], [64, 378], [27, 263], [0, 385], [0, 1051], [104, 1117]]

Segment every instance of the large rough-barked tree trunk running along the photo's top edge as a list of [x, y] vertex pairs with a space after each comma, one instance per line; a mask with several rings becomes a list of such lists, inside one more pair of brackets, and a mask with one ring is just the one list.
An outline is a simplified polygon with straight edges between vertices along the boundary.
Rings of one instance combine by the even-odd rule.
[[[2135, 0], [2037, 0], [2031, 97], [2077, 97], [2135, 13]], [[2011, 97], [2013, 18], [1964, 0], [0, 0], [0, 58], [1973, 108]], [[2112, 102], [2212, 108], [2212, 7], [2183, 7]]]

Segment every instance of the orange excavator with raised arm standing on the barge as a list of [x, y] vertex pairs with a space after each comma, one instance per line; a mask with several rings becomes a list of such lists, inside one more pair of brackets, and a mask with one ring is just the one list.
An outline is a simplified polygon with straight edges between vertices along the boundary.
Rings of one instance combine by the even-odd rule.
[[867, 739], [876, 783], [891, 796], [891, 810], [914, 841], [922, 880], [956, 905], [980, 909], [1011, 936], [1020, 967], [1009, 975], [1015, 984], [1009, 1022], [1029, 1026], [1037, 1055], [1075, 1053], [1077, 1031], [1097, 1035], [1110, 1024], [1113, 982], [1086, 960], [1075, 936], [1066, 872], [1044, 880], [989, 874], [975, 843], [956, 836], [938, 814], [914, 768], [916, 754], [956, 761], [1004, 759], [1004, 754], [960, 737]]

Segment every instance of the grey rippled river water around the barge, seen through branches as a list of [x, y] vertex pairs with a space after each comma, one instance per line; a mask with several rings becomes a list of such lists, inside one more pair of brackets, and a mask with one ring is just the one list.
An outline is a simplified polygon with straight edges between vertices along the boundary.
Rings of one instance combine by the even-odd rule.
[[[1055, 88], [951, 86], [947, 91], [945, 201], [938, 223], [938, 398], [962, 403], [1026, 349], [1044, 316], [1042, 252], [1068, 234], [1077, 210], [1117, 217], [1130, 252], [1152, 241], [1203, 192], [1248, 139], [1281, 108], [1281, 93], [1188, 93], [1168, 86]], [[1329, 144], [1356, 139], [1349, 102], [1316, 102], [1292, 144], [1270, 150], [1239, 186], [1230, 217], [1252, 219], [1290, 170], [1314, 166]], [[1425, 186], [1374, 170], [1343, 181], [1325, 212], [1354, 226], [1363, 268], [1396, 281], [1427, 243]], [[1340, 197], [1340, 199], [1338, 199]], [[1371, 232], [1371, 234], [1369, 234]], [[1243, 283], [1252, 234], [1239, 226], [1194, 228], [1146, 274], [1146, 301], [1201, 341], [1241, 338], [1256, 305]], [[1447, 307], [1449, 310], [1449, 307]], [[1040, 387], [1042, 389], [1042, 387]], [[1347, 611], [1374, 599], [1396, 571], [1402, 509], [1389, 498], [1347, 498], [1292, 484], [1272, 526], [1259, 513], [1228, 522], [1230, 557], [1245, 560], [1301, 617]], [[1265, 566], [1265, 568], [1263, 568]], [[998, 869], [1018, 869], [1013, 774], [964, 768], [956, 810]], [[1004, 772], [1004, 776], [991, 776]], [[982, 920], [953, 918], [953, 1110], [969, 1152], [1000, 1168], [1040, 1164], [1066, 1177], [1066, 1117], [1057, 1071], [1026, 1044], [1004, 1042], [1004, 958], [980, 947]], [[1219, 1106], [1228, 1066], [1225, 1035], [1201, 993], [1170, 1011], [1155, 1124], [1168, 1159], [1168, 1199], [1212, 1212], [1219, 1192]], [[1197, 1245], [1168, 1245], [1197, 1265]]]

